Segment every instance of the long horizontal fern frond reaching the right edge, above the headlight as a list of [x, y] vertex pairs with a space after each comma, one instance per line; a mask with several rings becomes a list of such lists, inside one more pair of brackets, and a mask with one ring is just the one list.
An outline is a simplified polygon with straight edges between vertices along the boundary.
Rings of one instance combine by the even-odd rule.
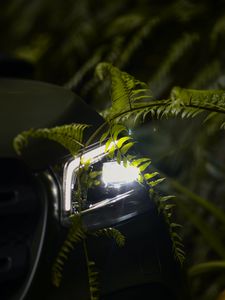
[[175, 87], [170, 99], [152, 100], [144, 106], [128, 109], [115, 116], [116, 120], [132, 118], [135, 114], [152, 117], [193, 118], [200, 113], [225, 114], [225, 91], [223, 90], [193, 90]]

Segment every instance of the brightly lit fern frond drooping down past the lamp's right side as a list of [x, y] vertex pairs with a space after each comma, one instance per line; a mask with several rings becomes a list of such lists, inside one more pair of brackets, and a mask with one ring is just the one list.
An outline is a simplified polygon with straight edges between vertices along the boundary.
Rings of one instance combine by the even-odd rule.
[[[161, 183], [165, 178], [159, 177], [158, 172], [149, 172], [149, 166], [151, 164], [151, 160], [146, 157], [136, 157], [135, 155], [130, 155], [127, 151], [134, 146], [134, 142], [129, 135], [124, 134], [123, 137], [118, 138], [120, 133], [127, 133], [127, 129], [122, 124], [113, 124], [109, 128], [109, 130], [103, 134], [101, 140], [105, 140], [108, 138], [106, 142], [105, 152], [108, 153], [110, 158], [114, 158], [117, 160], [117, 163], [121, 164], [126, 167], [128, 165], [134, 166], [139, 169], [139, 178], [138, 181], [140, 184], [144, 184], [149, 189], [150, 199], [153, 199], [155, 202], [158, 211], [162, 212], [168, 227], [169, 233], [173, 245], [173, 252], [176, 259], [183, 264], [185, 253], [183, 250], [183, 245], [181, 243], [181, 238], [179, 237], [178, 233], [176, 232], [178, 224], [175, 224], [171, 221], [171, 209], [174, 207], [173, 203], [167, 203], [168, 200], [171, 200], [173, 196], [167, 197], [160, 197], [155, 191], [154, 188], [156, 185]], [[124, 150], [125, 149], [125, 150]], [[156, 200], [157, 199], [157, 200]], [[108, 235], [116, 234], [114, 238], [120, 238], [120, 233], [115, 232], [109, 229], [103, 229], [95, 233], [97, 235]], [[119, 234], [119, 236], [118, 236]]]

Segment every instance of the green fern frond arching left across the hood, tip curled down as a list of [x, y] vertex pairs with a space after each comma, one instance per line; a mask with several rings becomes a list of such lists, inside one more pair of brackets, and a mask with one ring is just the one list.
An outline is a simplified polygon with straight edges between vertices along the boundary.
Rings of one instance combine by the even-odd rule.
[[67, 148], [71, 154], [76, 154], [80, 147], [83, 147], [83, 132], [89, 127], [86, 124], [62, 125], [53, 128], [30, 129], [17, 135], [13, 146], [18, 155], [28, 145], [30, 138], [45, 138], [58, 142]]

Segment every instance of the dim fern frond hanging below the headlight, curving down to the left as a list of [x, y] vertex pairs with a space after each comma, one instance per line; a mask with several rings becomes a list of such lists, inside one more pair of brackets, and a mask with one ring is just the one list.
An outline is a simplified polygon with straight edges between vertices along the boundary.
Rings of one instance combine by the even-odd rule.
[[70, 252], [75, 245], [86, 238], [86, 233], [82, 227], [81, 218], [79, 215], [73, 215], [71, 218], [72, 224], [67, 234], [65, 241], [57, 254], [52, 267], [52, 283], [56, 287], [60, 286], [62, 280], [63, 267], [68, 259]]

